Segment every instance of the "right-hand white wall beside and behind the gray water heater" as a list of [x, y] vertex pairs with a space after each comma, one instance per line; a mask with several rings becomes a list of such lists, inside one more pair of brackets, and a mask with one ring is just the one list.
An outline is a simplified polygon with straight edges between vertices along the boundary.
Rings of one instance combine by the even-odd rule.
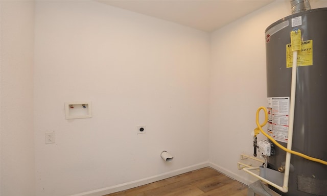
[[[327, 2], [311, 1], [311, 6], [327, 7]], [[289, 1], [276, 1], [212, 33], [209, 160], [243, 183], [254, 179], [238, 170], [237, 162], [241, 153], [253, 154], [255, 112], [266, 106], [264, 32], [290, 14]]]

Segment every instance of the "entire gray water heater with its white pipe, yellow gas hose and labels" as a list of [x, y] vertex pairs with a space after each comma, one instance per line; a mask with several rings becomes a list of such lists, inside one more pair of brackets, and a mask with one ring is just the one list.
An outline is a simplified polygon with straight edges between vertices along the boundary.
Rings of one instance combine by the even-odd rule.
[[[302, 7], [309, 3], [294, 2]], [[254, 156], [259, 149], [265, 161], [260, 167], [241, 169], [259, 178], [256, 184], [266, 185], [259, 195], [326, 196], [327, 8], [309, 5], [292, 11], [271, 24], [265, 36], [268, 106], [256, 113], [258, 133], [253, 141]], [[262, 125], [261, 109], [266, 117]], [[259, 131], [268, 139], [257, 142]], [[255, 195], [255, 187], [250, 189], [249, 195]]]

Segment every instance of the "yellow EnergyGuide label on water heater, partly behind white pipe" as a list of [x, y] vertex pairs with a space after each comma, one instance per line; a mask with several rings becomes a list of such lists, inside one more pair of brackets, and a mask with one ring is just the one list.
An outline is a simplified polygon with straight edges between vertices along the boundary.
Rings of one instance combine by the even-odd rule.
[[[312, 39], [301, 42], [301, 50], [297, 52], [297, 66], [312, 65]], [[292, 44], [286, 44], [286, 67], [293, 65], [293, 51]]]

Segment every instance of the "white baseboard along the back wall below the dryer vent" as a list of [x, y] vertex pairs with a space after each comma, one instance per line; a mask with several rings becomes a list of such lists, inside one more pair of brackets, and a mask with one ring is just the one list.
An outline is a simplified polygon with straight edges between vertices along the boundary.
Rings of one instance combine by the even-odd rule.
[[[137, 187], [137, 186], [142, 186], [142, 185], [145, 185], [145, 184], [149, 184], [149, 183], [152, 183], [152, 182], [156, 182], [156, 181], [159, 181], [159, 180], [163, 180], [163, 179], [166, 179], [166, 178], [170, 178], [170, 177], [173, 177], [173, 176], [177, 176], [177, 175], [180, 175], [180, 174], [187, 173], [189, 171], [193, 171], [193, 170], [196, 170], [196, 169], [201, 169], [201, 168], [208, 167], [208, 166], [210, 166], [209, 162], [203, 162], [203, 163], [199, 163], [199, 164], [196, 164], [196, 165], [191, 165], [191, 166], [188, 166], [188, 167], [183, 167], [183, 168], [180, 168], [180, 169], [169, 171], [167, 173], [159, 174], [159, 175], [156, 175], [156, 176], [151, 176], [151, 177], [148, 177], [148, 178], [143, 178], [143, 179], [140, 179], [140, 180], [135, 180], [135, 181], [131, 181], [131, 182], [123, 183], [123, 184], [118, 184], [118, 185], [110, 186], [110, 187], [106, 187], [106, 188], [101, 188], [101, 189], [97, 189], [97, 190], [92, 190], [92, 191], [88, 191], [88, 192], [82, 192], [82, 193], [74, 194], [74, 195], [71, 195], [71, 196], [101, 196], [101, 195], [110, 194], [110, 193], [113, 193], [113, 192], [126, 190], [126, 189], [129, 189], [129, 188], [134, 188], [134, 187]], [[211, 166], [211, 167], [213, 167], [213, 166]]]

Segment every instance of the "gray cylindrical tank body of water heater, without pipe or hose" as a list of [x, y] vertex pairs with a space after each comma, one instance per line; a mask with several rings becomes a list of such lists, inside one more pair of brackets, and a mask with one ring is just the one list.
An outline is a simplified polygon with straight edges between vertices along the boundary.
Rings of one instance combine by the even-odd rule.
[[[285, 107], [290, 99], [293, 55], [290, 32], [297, 29], [301, 31], [302, 49], [298, 52], [292, 150], [327, 160], [327, 8], [290, 15], [265, 31], [267, 97], [268, 103], [274, 101], [277, 107], [268, 108], [271, 119], [267, 131], [286, 147], [288, 116], [286, 111], [278, 111], [278, 107], [284, 110], [282, 105]], [[268, 167], [282, 168], [285, 157], [286, 152], [276, 147], [275, 155], [268, 159]], [[326, 196], [327, 165], [292, 155], [289, 191], [272, 189], [288, 196]]]

